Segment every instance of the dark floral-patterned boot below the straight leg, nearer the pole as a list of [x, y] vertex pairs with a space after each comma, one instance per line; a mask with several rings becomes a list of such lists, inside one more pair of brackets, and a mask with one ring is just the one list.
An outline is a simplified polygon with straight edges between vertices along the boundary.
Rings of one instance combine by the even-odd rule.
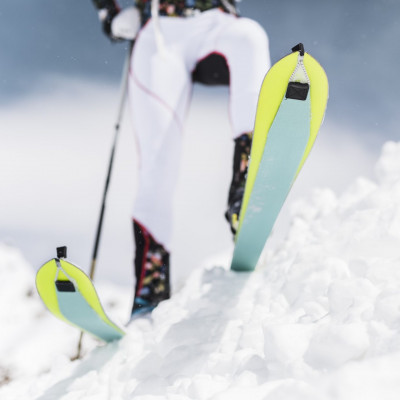
[[131, 319], [150, 313], [170, 297], [169, 253], [147, 229], [133, 222], [136, 243], [136, 288]]

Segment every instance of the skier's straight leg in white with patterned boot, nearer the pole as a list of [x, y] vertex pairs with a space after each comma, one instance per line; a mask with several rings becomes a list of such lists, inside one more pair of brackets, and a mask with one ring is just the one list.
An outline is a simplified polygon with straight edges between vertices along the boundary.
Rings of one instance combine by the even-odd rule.
[[133, 314], [169, 297], [173, 197], [181, 158], [189, 73], [179, 54], [157, 51], [148, 24], [135, 45], [130, 71], [132, 121], [140, 152], [134, 205], [136, 290]]

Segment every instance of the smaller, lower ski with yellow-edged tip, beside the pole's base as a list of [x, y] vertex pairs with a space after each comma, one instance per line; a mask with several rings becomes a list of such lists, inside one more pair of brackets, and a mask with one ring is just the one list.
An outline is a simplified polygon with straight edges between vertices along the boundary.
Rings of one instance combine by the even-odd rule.
[[66, 247], [37, 272], [36, 287], [48, 310], [57, 318], [103, 342], [121, 339], [125, 332], [104, 312], [90, 278], [66, 259]]

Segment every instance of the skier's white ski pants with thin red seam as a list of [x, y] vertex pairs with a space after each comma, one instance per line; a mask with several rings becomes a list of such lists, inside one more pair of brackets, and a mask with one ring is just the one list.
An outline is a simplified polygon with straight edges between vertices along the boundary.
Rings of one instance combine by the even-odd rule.
[[235, 138], [253, 130], [270, 57], [265, 31], [247, 18], [214, 9], [195, 17], [160, 17], [159, 21], [163, 43], [157, 42], [150, 20], [137, 37], [131, 61], [130, 105], [140, 152], [133, 217], [169, 249], [192, 71], [211, 53], [226, 59]]

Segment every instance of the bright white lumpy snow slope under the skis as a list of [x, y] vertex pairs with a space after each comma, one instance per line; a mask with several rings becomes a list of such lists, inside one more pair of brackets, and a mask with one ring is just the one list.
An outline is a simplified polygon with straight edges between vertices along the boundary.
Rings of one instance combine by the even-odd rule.
[[[375, 181], [315, 190], [292, 213], [254, 273], [216, 257], [119, 343], [86, 336], [74, 362], [75, 329], [45, 311], [32, 268], [1, 246], [0, 398], [397, 400], [400, 143], [384, 146]], [[132, 294], [98, 286], [122, 324]]]

